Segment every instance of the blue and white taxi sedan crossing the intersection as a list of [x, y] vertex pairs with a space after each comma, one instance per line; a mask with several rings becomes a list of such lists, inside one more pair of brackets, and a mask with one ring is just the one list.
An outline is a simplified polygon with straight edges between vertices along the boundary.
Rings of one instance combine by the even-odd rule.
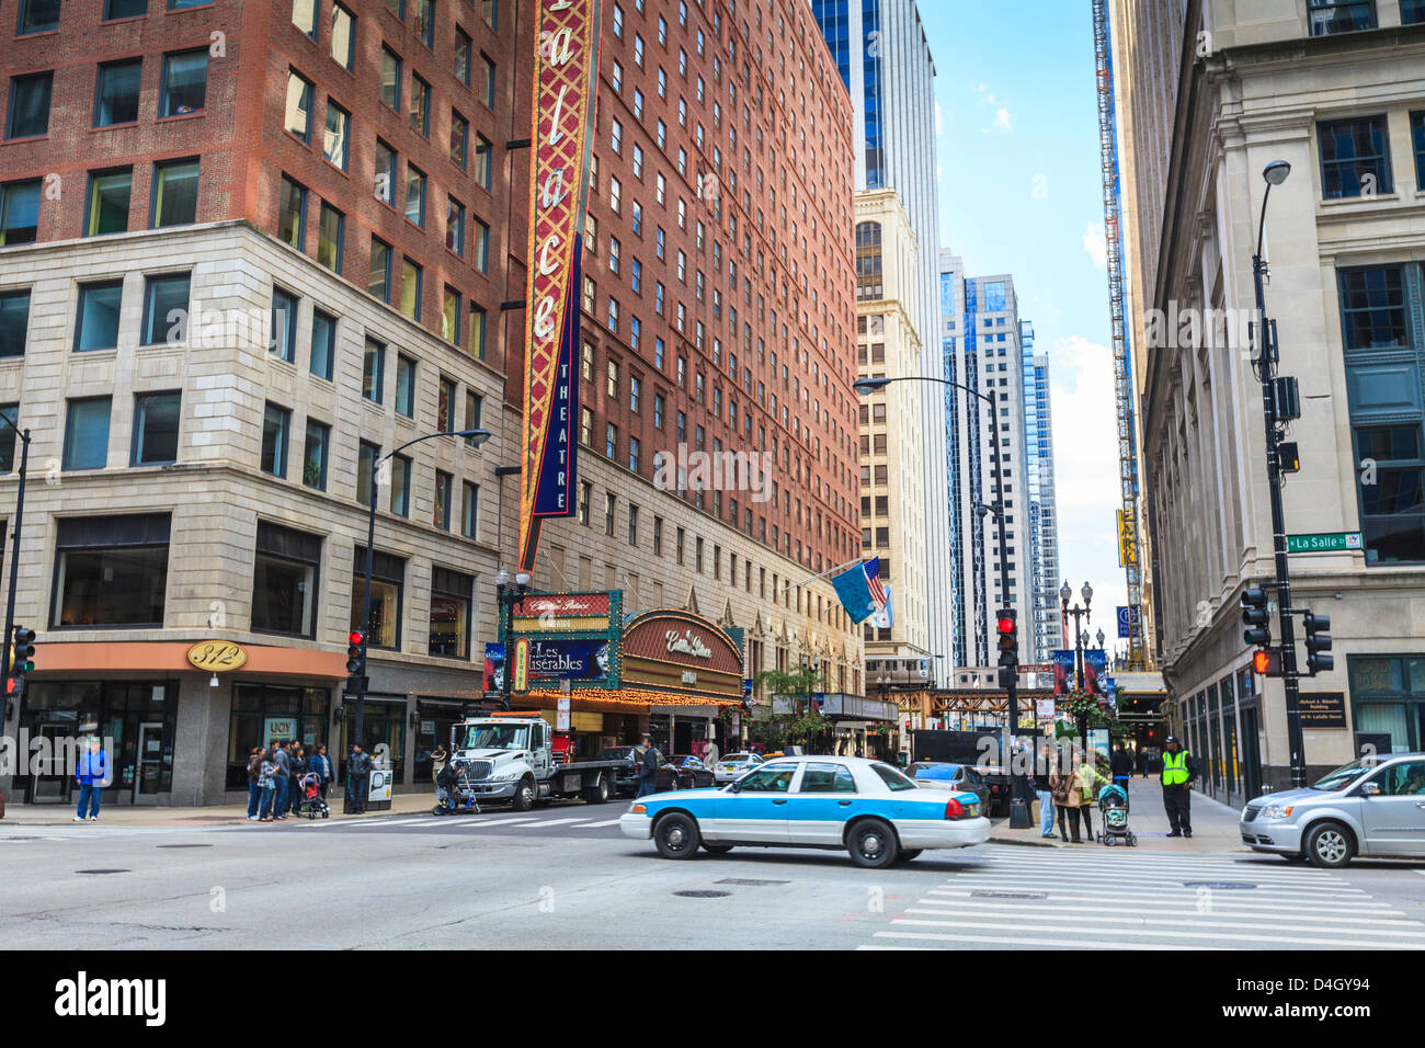
[[989, 840], [973, 793], [922, 788], [865, 757], [774, 757], [722, 788], [640, 797], [618, 826], [653, 840], [664, 858], [691, 858], [700, 847], [846, 848], [871, 868]]

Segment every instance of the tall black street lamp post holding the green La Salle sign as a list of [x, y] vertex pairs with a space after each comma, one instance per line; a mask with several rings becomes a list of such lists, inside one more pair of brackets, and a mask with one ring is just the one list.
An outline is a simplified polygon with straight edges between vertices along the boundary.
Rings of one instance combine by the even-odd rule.
[[1267, 493], [1271, 498], [1271, 548], [1277, 570], [1277, 617], [1281, 623], [1281, 677], [1287, 693], [1287, 747], [1291, 750], [1291, 784], [1307, 784], [1305, 743], [1301, 737], [1301, 696], [1297, 676], [1297, 642], [1291, 620], [1291, 580], [1287, 573], [1287, 522], [1281, 505], [1281, 432], [1277, 425], [1277, 404], [1273, 386], [1277, 376], [1277, 338], [1274, 322], [1267, 319], [1267, 262], [1261, 257], [1263, 234], [1267, 230], [1267, 200], [1271, 187], [1281, 185], [1291, 174], [1291, 164], [1274, 160], [1263, 168], [1267, 190], [1261, 195], [1261, 218], [1257, 222], [1257, 251], [1251, 257], [1251, 275], [1257, 292], [1257, 376], [1261, 379], [1261, 411], [1267, 429]]

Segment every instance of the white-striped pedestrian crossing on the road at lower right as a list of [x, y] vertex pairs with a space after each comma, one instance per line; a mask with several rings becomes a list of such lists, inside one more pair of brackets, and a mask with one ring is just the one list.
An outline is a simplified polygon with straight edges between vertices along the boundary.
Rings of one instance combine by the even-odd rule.
[[1335, 871], [1230, 856], [990, 846], [862, 950], [1425, 950], [1425, 924]]

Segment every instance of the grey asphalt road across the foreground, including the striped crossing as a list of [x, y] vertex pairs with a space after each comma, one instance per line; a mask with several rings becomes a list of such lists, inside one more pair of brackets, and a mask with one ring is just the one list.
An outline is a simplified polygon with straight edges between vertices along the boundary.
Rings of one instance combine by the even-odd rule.
[[0, 828], [10, 948], [1425, 948], [1425, 861], [737, 848], [674, 863], [623, 806], [221, 827]]

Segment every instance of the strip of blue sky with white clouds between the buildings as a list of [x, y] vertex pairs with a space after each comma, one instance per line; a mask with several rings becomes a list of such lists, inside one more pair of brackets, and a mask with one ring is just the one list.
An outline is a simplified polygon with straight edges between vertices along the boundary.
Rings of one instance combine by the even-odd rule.
[[1103, 190], [1089, 0], [921, 0], [935, 57], [940, 247], [1009, 272], [1047, 351], [1060, 576], [1094, 589], [1116, 644], [1126, 603]]

